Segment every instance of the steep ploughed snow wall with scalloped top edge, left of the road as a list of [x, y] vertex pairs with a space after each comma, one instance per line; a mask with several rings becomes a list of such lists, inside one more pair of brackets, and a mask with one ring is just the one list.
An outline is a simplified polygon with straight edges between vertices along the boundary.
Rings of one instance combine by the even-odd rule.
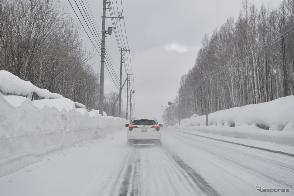
[[67, 98], [30, 101], [0, 93], [0, 177], [79, 142], [105, 138], [125, 124], [97, 110], [76, 109]]

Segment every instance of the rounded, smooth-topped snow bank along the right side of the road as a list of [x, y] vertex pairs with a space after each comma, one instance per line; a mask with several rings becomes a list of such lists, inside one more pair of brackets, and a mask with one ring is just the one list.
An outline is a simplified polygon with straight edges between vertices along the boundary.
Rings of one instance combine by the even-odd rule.
[[294, 95], [210, 113], [208, 124], [193, 115], [170, 128], [294, 145]]

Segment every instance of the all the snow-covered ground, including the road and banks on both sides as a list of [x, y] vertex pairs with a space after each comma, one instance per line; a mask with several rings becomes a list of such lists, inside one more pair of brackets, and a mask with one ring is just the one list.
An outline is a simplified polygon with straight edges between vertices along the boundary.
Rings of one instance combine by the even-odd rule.
[[26, 85], [0, 71], [0, 90], [14, 94], [0, 93], [0, 195], [294, 193], [294, 96], [214, 112], [208, 127], [206, 116], [183, 119], [163, 130], [162, 148], [128, 148], [125, 119], [59, 95], [16, 96]]

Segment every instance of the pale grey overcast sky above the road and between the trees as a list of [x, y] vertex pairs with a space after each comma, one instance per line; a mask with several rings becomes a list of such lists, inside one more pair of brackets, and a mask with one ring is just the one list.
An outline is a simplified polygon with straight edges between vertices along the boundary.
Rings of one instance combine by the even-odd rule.
[[[68, 6], [68, 12], [78, 21], [68, 1], [63, 0], [63, 2]], [[78, 12], [74, 0], [70, 2]], [[76, 2], [79, 3], [78, 0]], [[88, 2], [90, 5], [101, 31], [103, 0], [83, 0], [83, 2], [84, 4]], [[176, 98], [180, 78], [193, 67], [204, 34], [208, 33], [210, 36], [212, 31], [220, 28], [230, 16], [236, 21], [242, 6], [241, 0], [117, 0], [117, 2], [112, 0], [112, 2], [118, 3], [118, 12], [122, 12], [121, 2], [123, 6], [130, 49], [129, 64], [132, 64], [134, 74], [131, 79], [135, 88], [132, 89], [135, 90], [135, 105], [133, 105], [135, 116], [156, 117], [159, 121], [163, 110], [166, 109], [161, 105], [168, 106], [167, 102]], [[270, 2], [274, 8], [277, 8], [282, 0], [249, 0], [249, 2], [253, 2], [259, 10], [262, 3], [268, 5]], [[117, 10], [116, 6], [114, 9]], [[109, 11], [106, 12], [106, 16], [110, 16]], [[111, 19], [106, 19], [106, 28], [108, 26], [113, 26]], [[84, 29], [82, 31], [84, 32]], [[85, 33], [83, 40], [87, 48], [93, 48]], [[120, 51], [114, 34], [107, 36], [106, 46], [115, 62], [113, 67], [119, 77]], [[100, 72], [98, 53], [92, 62], [94, 68]], [[124, 74], [123, 82], [125, 78]], [[104, 92], [110, 91], [119, 92], [105, 67]], [[122, 99], [126, 106], [126, 97], [122, 96]], [[124, 111], [125, 108], [122, 110]]]

